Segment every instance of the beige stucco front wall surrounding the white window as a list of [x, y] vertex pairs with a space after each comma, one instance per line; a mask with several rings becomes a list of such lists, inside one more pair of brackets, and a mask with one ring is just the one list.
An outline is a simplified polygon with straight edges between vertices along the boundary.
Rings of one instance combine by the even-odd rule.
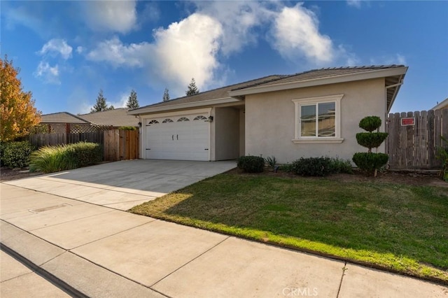
[[[342, 143], [293, 143], [295, 139], [295, 104], [293, 99], [344, 94], [340, 101]], [[296, 90], [283, 90], [246, 96], [245, 154], [274, 155], [281, 163], [300, 157], [330, 156], [351, 159], [354, 152], [366, 149], [356, 142], [362, 132], [359, 121], [377, 115], [384, 131], [386, 93], [384, 78], [339, 83]], [[384, 152], [384, 144], [379, 148]]]

